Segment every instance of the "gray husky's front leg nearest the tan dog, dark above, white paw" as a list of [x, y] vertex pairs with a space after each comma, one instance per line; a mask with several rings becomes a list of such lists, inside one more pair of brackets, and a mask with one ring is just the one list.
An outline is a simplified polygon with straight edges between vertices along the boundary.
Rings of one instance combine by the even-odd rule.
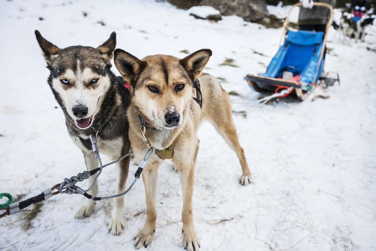
[[[124, 153], [123, 153], [124, 154]], [[126, 190], [126, 181], [129, 171], [129, 156], [116, 164], [116, 188], [115, 194], [122, 193]], [[124, 222], [123, 209], [124, 209], [124, 196], [113, 199], [113, 207], [111, 213], [111, 223], [108, 229], [111, 234], [119, 235], [123, 233], [126, 228]]]

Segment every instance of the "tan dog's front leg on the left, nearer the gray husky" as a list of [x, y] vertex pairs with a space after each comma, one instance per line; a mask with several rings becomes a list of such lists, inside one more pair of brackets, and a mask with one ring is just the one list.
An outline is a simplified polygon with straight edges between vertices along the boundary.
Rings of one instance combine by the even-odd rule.
[[134, 238], [133, 245], [136, 249], [146, 248], [152, 243], [153, 234], [155, 233], [155, 225], [157, 220], [157, 211], [155, 208], [155, 200], [157, 193], [158, 166], [159, 160], [151, 159], [146, 168], [142, 172], [142, 178], [146, 193], [146, 222], [144, 228]]

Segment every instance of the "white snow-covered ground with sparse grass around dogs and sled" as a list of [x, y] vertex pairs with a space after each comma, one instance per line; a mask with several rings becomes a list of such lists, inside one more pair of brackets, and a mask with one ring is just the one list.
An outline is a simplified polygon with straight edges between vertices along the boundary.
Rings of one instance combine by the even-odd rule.
[[[243, 77], [265, 71], [281, 29], [239, 17], [210, 23], [146, 0], [2, 1], [0, 14], [0, 192], [28, 198], [85, 170], [62, 111], [55, 109], [34, 30], [60, 47], [96, 47], [115, 30], [117, 47], [139, 58], [183, 57], [180, 50], [211, 48], [205, 71], [225, 78], [223, 88], [242, 95], [232, 97], [233, 110], [245, 110], [247, 117], [233, 117], [254, 184], [238, 183], [236, 155], [203, 124], [193, 199], [202, 250], [376, 249], [376, 53], [366, 49], [376, 48], [375, 26], [367, 29], [365, 43], [350, 45], [331, 30], [325, 67], [340, 74], [341, 86], [326, 90], [329, 99], [259, 105], [259, 94]], [[239, 67], [219, 66], [225, 58]], [[130, 167], [127, 184], [136, 168]], [[114, 193], [113, 170], [107, 167], [100, 177], [100, 195]], [[164, 164], [149, 250], [183, 250], [181, 195], [179, 175]], [[146, 218], [141, 180], [126, 195], [127, 229], [120, 236], [108, 233], [108, 201], [97, 202], [90, 218], [75, 219], [82, 200], [57, 195], [45, 201], [27, 231], [21, 229], [24, 213], [0, 219], [0, 250], [133, 250], [132, 239]]]

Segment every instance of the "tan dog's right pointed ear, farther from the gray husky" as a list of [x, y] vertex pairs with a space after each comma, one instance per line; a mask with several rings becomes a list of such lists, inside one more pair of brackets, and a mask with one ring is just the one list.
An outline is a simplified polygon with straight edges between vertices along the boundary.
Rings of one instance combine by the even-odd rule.
[[180, 63], [184, 66], [185, 70], [188, 71], [188, 74], [193, 79], [196, 79], [208, 63], [211, 55], [212, 51], [210, 49], [201, 49], [180, 59]]

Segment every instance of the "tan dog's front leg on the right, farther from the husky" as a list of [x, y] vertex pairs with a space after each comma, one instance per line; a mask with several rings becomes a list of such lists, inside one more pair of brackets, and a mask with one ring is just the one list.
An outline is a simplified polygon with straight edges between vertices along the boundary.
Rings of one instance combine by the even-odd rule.
[[188, 251], [197, 251], [200, 248], [199, 238], [193, 225], [192, 215], [192, 199], [193, 199], [193, 184], [194, 184], [194, 162], [186, 160], [178, 161], [178, 170], [180, 172], [180, 183], [183, 192], [183, 246]]

